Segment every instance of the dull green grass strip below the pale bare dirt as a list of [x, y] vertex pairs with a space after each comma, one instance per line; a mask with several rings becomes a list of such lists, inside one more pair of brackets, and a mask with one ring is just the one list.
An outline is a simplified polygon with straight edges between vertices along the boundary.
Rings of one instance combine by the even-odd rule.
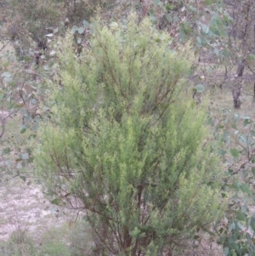
[[17, 229], [11, 233], [8, 241], [0, 242], [0, 253], [1, 256], [92, 255], [93, 241], [88, 230], [84, 221], [62, 225], [45, 232], [38, 244], [28, 229]]

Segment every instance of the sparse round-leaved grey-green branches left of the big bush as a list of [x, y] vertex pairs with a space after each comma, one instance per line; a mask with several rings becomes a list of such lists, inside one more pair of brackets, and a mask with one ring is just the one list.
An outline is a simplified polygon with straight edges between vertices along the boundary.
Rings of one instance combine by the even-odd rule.
[[[42, 76], [48, 77], [52, 69], [35, 71], [33, 66], [28, 69], [31, 59], [27, 59], [20, 62], [14, 52], [1, 54], [0, 132], [3, 131], [0, 141], [1, 183], [12, 176], [20, 176], [21, 179], [26, 180], [26, 176], [31, 175], [27, 174], [27, 171], [31, 170], [32, 162], [29, 142], [31, 138], [36, 137], [41, 118], [37, 109], [40, 101], [45, 97], [46, 89], [43, 78], [37, 79], [35, 76], [37, 77], [38, 71], [43, 74]], [[53, 57], [47, 59], [51, 62]]]

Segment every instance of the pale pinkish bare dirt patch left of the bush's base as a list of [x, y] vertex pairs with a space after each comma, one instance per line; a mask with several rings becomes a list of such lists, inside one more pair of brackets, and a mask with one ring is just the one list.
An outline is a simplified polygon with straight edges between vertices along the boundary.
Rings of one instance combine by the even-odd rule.
[[0, 185], [0, 241], [6, 241], [14, 230], [26, 230], [39, 241], [47, 230], [66, 221], [66, 216], [43, 196], [38, 185], [17, 179]]

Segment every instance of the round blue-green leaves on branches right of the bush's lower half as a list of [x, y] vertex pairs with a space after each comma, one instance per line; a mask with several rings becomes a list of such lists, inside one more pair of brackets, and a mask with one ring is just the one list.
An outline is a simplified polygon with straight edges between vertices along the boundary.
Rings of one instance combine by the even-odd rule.
[[[254, 255], [254, 117], [223, 110], [215, 118], [215, 136], [220, 141], [218, 155], [227, 171], [222, 196], [231, 195], [224, 219], [218, 224], [218, 243], [224, 255]], [[218, 145], [217, 145], [218, 146]]]

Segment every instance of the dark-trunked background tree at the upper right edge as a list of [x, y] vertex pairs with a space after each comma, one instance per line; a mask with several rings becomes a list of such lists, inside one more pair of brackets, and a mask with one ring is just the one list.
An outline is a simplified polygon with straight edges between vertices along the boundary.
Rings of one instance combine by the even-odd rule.
[[235, 84], [232, 85], [235, 108], [241, 108], [241, 90], [248, 91], [243, 81], [245, 68], [254, 74], [255, 3], [253, 1], [225, 1], [231, 22], [228, 24], [229, 57], [237, 65]]

